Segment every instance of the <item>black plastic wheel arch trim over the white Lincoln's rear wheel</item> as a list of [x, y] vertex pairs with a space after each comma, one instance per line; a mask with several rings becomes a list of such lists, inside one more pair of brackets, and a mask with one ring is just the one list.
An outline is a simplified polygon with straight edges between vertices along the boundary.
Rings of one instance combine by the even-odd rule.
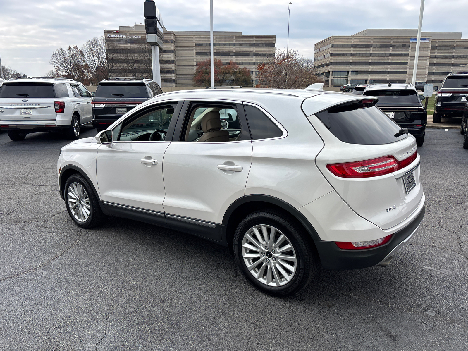
[[249, 213], [260, 209], [274, 209], [289, 214], [297, 220], [298, 225], [306, 231], [313, 241], [321, 241], [314, 227], [295, 207], [287, 202], [270, 195], [252, 194], [246, 195], [234, 201], [226, 210], [222, 221], [222, 237], [225, 238], [227, 247], [234, 254], [234, 232], [239, 222]]

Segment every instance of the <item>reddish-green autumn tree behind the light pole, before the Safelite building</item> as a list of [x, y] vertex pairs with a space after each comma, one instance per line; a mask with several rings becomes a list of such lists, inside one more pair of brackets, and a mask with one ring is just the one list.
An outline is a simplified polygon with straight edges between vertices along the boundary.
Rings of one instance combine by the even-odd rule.
[[[239, 67], [234, 61], [229, 61], [227, 65], [223, 65], [220, 59], [213, 61], [214, 85], [229, 86], [240, 85], [243, 87], [251, 87], [250, 71], [244, 67]], [[198, 62], [193, 82], [197, 87], [211, 85], [211, 59]]]

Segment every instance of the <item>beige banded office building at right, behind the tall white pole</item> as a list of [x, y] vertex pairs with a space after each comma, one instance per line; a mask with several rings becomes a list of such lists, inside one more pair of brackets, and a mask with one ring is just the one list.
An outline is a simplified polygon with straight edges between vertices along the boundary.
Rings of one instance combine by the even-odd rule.
[[[315, 44], [314, 70], [326, 86], [411, 82], [417, 29], [365, 29]], [[422, 32], [416, 81], [440, 84], [468, 71], [468, 39], [461, 32]]]

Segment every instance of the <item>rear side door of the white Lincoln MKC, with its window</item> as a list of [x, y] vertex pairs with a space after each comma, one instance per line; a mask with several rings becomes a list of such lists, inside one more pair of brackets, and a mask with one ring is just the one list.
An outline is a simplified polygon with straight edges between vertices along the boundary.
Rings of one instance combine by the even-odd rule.
[[[219, 111], [223, 109], [239, 117], [238, 130], [221, 131], [219, 139], [223, 141], [203, 141], [209, 132], [202, 129], [205, 116], [217, 118], [221, 127]], [[224, 213], [244, 196], [252, 163], [252, 143], [242, 104], [185, 102], [176, 131], [163, 161], [167, 224], [220, 241]]]

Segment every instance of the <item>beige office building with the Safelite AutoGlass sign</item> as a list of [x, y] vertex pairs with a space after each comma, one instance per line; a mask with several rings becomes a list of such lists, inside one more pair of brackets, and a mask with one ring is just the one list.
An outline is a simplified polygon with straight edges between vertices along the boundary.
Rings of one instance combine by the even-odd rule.
[[[252, 83], [256, 80], [257, 65], [275, 53], [276, 36], [242, 35], [242, 32], [214, 32], [213, 36], [214, 57], [223, 64], [232, 60], [240, 67], [247, 67]], [[147, 61], [148, 58], [151, 61], [151, 50], [149, 45], [145, 46], [144, 25], [121, 26], [118, 33], [104, 30], [104, 37], [108, 59], [114, 62], [112, 76], [134, 76], [134, 73], [142, 77], [152, 76], [151, 62]], [[161, 86], [192, 87], [198, 62], [210, 59], [210, 32], [164, 29], [163, 42]], [[135, 62], [131, 62], [128, 55], [132, 55]], [[140, 60], [144, 62], [137, 62]], [[139, 63], [141, 65], [136, 65]]]

